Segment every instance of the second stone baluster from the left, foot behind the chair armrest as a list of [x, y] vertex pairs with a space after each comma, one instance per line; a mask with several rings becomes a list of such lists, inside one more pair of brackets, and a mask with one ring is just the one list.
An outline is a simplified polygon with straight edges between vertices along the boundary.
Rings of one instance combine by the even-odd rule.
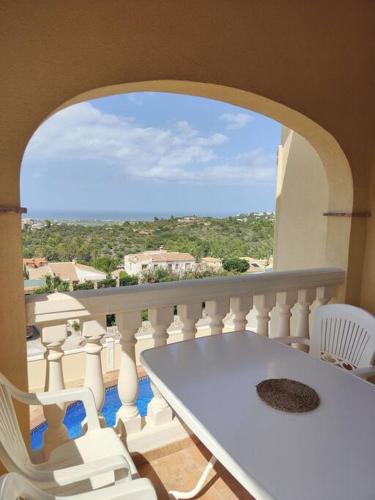
[[[104, 378], [102, 370], [101, 352], [102, 338], [106, 332], [106, 317], [90, 316], [82, 321], [82, 333], [86, 339], [85, 379], [83, 385], [89, 387], [94, 395], [95, 406], [100, 414], [105, 396]], [[104, 418], [100, 416], [101, 425], [105, 426]]]

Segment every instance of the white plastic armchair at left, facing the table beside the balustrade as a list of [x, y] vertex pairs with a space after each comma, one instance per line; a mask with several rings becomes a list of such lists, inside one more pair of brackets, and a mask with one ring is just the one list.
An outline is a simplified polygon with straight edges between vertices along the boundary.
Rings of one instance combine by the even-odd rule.
[[[86, 433], [56, 447], [48, 461], [32, 463], [18, 425], [13, 398], [28, 405], [82, 401]], [[129, 452], [112, 428], [100, 428], [90, 389], [27, 393], [0, 374], [0, 460], [9, 472], [18, 472], [42, 490], [56, 494], [97, 489], [115, 480], [138, 478]], [[153, 498], [153, 497], [150, 497]]]

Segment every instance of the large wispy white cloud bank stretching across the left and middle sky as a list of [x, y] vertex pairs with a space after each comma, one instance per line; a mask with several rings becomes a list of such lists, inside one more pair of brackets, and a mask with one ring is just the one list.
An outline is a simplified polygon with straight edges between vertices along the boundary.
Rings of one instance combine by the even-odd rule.
[[[244, 115], [249, 117], [249, 115]], [[187, 121], [145, 127], [133, 118], [104, 113], [91, 103], [66, 108], [45, 122], [26, 150], [36, 170], [54, 162], [101, 162], [119, 176], [180, 183], [273, 182], [274, 158], [260, 149], [221, 161], [221, 133], [203, 134]], [[221, 154], [220, 154], [221, 153]], [[87, 163], [85, 163], [87, 165]], [[104, 170], [104, 167], [103, 167]]]

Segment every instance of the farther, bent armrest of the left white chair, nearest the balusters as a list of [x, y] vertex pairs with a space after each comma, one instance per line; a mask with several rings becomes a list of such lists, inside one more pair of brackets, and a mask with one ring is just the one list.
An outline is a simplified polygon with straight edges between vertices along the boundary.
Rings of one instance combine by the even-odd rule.
[[94, 396], [88, 387], [77, 387], [74, 389], [63, 389], [61, 391], [36, 392], [34, 394], [36, 405], [52, 405], [66, 403], [69, 401], [82, 401], [86, 410], [87, 430], [99, 429], [98, 412], [95, 406]]

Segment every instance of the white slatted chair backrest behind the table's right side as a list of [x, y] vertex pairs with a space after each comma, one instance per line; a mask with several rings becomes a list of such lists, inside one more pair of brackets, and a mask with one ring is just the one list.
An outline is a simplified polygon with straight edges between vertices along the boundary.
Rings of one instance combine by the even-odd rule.
[[347, 370], [372, 365], [375, 317], [347, 304], [318, 307], [311, 332], [310, 352]]

